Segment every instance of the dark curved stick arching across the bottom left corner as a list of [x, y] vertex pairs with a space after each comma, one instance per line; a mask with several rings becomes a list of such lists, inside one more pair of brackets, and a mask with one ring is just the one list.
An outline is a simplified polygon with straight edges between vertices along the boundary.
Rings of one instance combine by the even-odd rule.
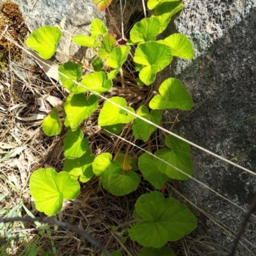
[[98, 241], [96, 241], [92, 236], [90, 236], [89, 234], [87, 234], [86, 232], [84, 232], [83, 230], [79, 230], [78, 228], [70, 225], [69, 223], [64, 223], [58, 220], [51, 220], [51, 219], [47, 219], [47, 218], [31, 218], [31, 217], [16, 217], [16, 218], [3, 218], [0, 219], [0, 223], [7, 223], [7, 222], [13, 222], [13, 221], [27, 221], [29, 223], [31, 222], [35, 222], [35, 221], [39, 221], [39, 222], [44, 222], [44, 223], [48, 223], [49, 225], [57, 225], [58, 227], [63, 227], [63, 228], [68, 228], [69, 230], [76, 232], [76, 234], [83, 236], [86, 240], [88, 240], [93, 246], [96, 246], [97, 248], [99, 248], [100, 250], [102, 250], [102, 252], [106, 253], [106, 255], [108, 256], [112, 256], [111, 253], [106, 250], [106, 248], [100, 244]]

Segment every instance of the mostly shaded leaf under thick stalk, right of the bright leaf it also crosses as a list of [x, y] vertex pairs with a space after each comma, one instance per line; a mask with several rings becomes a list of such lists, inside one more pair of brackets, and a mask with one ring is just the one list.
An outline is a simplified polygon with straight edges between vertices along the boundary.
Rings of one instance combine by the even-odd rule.
[[[146, 118], [150, 122], [159, 125], [161, 122], [161, 112], [152, 110], [150, 113], [145, 106], [140, 106], [137, 111], [137, 115]], [[156, 131], [154, 125], [147, 124], [145, 121], [140, 118], [135, 118], [132, 123], [132, 131], [134, 136], [139, 139], [147, 142], [152, 132]]]

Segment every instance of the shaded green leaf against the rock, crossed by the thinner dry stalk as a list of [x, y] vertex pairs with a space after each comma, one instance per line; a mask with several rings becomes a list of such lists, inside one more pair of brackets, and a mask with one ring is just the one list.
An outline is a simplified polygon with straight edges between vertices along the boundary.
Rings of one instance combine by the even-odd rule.
[[[166, 146], [170, 149], [161, 149], [155, 152], [155, 155], [167, 163], [179, 168], [188, 175], [193, 175], [193, 165], [190, 158], [190, 146], [188, 143], [179, 140], [178, 138], [168, 135], [165, 140]], [[172, 166], [156, 160], [160, 172], [165, 173], [171, 179], [188, 180], [187, 175], [175, 170]]]

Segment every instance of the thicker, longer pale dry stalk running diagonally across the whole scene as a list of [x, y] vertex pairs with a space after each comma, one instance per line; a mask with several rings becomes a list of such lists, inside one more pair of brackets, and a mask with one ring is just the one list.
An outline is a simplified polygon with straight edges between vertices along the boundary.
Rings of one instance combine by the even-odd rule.
[[[6, 37], [6, 36], [4, 36], [4, 37]], [[12, 38], [7, 38], [7, 39], [9, 39], [9, 40], [11, 39], [11, 41], [12, 41], [13, 44], [17, 45], [18, 47], [20, 47], [20, 49], [23, 49], [26, 53], [28, 53], [29, 55], [31, 55], [31, 53], [30, 53], [27, 49], [25, 49], [25, 48], [22, 47], [21, 45], [17, 44], [17, 42], [15, 42], [14, 40], [12, 40]], [[33, 56], [33, 57], [36, 58], [35, 56]], [[36, 60], [40, 60], [40, 59], [39, 59], [39, 58], [36, 58]], [[42, 61], [42, 60], [41, 60], [41, 61]], [[47, 63], [45, 63], [45, 65], [47, 65], [48, 67], [52, 68], [51, 65], [49, 65], [49, 64], [47, 64]], [[135, 116], [135, 117], [137, 117], [137, 118], [140, 118], [140, 119], [143, 120], [144, 122], [147, 122], [147, 124], [153, 125], [154, 127], [157, 127], [158, 129], [160, 129], [161, 131], [164, 131], [164, 132], [166, 132], [166, 133], [168, 133], [168, 134], [174, 136], [175, 138], [178, 138], [178, 139], [180, 139], [180, 140], [182, 140], [182, 141], [185, 141], [185, 142], [188, 143], [189, 145], [191, 145], [191, 146], [193, 146], [193, 147], [196, 147], [196, 148], [198, 148], [198, 149], [200, 149], [200, 150], [206, 152], [207, 154], [210, 154], [211, 156], [214, 156], [214, 157], [216, 157], [216, 158], [218, 158], [218, 159], [221, 159], [222, 161], [225, 161], [226, 163], [232, 164], [233, 166], [236, 166], [237, 168], [239, 168], [239, 169], [241, 169], [241, 170], [244, 170], [245, 172], [248, 172], [248, 173], [250, 173], [250, 174], [256, 176], [256, 173], [252, 172], [251, 170], [248, 170], [248, 169], [244, 168], [243, 166], [240, 166], [239, 164], [233, 163], [232, 161], [229, 161], [228, 159], [225, 159], [224, 157], [218, 156], [217, 154], [215, 154], [215, 153], [213, 153], [213, 152], [211, 152], [211, 151], [209, 151], [209, 150], [207, 150], [207, 149], [205, 149], [205, 148], [203, 148], [203, 147], [200, 147], [200, 146], [196, 145], [195, 143], [193, 143], [193, 142], [191, 142], [191, 141], [189, 141], [189, 140], [186, 140], [186, 139], [180, 137], [179, 135], [177, 135], [177, 134], [175, 134], [175, 133], [173, 133], [173, 132], [168, 131], [167, 129], [164, 129], [164, 128], [161, 127], [161, 126], [159, 126], [159, 125], [157, 125], [157, 124], [154, 124], [153, 122], [147, 120], [146, 118], [143, 118], [142, 116], [137, 115], [136, 113], [130, 111], [129, 109], [126, 109], [126, 108], [123, 107], [123, 106], [119, 106], [118, 104], [116, 104], [115, 102], [111, 101], [110, 99], [104, 97], [103, 95], [100, 95], [99, 93], [93, 92], [93, 90], [91, 90], [91, 89], [89, 89], [89, 88], [86, 88], [86, 86], [84, 86], [83, 84], [78, 83], [78, 82], [75, 81], [74, 79], [70, 79], [70, 77], [66, 76], [65, 74], [63, 74], [63, 73], [60, 72], [59, 70], [56, 70], [55, 68], [52, 68], [52, 70], [58, 72], [58, 74], [61, 74], [62, 76], [66, 77], [67, 79], [69, 79], [69, 80], [72, 81], [73, 83], [76, 83], [77, 85], [82, 86], [83, 88], [85, 88], [86, 90], [88, 90], [88, 92], [91, 92], [91, 93], [97, 95], [98, 97], [100, 97], [101, 99], [104, 99], [104, 100], [110, 102], [111, 104], [113, 104], [114, 106], [116, 106], [116, 107], [118, 107], [118, 108], [120, 108], [120, 109], [126, 111], [127, 113], [129, 113], [129, 114], [131, 114], [131, 115], [133, 115], [133, 116]]]

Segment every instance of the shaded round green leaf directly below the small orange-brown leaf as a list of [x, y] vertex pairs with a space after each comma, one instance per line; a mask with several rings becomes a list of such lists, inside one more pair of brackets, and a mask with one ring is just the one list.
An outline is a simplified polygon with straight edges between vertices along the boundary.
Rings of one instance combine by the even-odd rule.
[[109, 172], [108, 188], [113, 195], [127, 195], [135, 191], [139, 184], [140, 176], [136, 172], [125, 172], [122, 167]]

